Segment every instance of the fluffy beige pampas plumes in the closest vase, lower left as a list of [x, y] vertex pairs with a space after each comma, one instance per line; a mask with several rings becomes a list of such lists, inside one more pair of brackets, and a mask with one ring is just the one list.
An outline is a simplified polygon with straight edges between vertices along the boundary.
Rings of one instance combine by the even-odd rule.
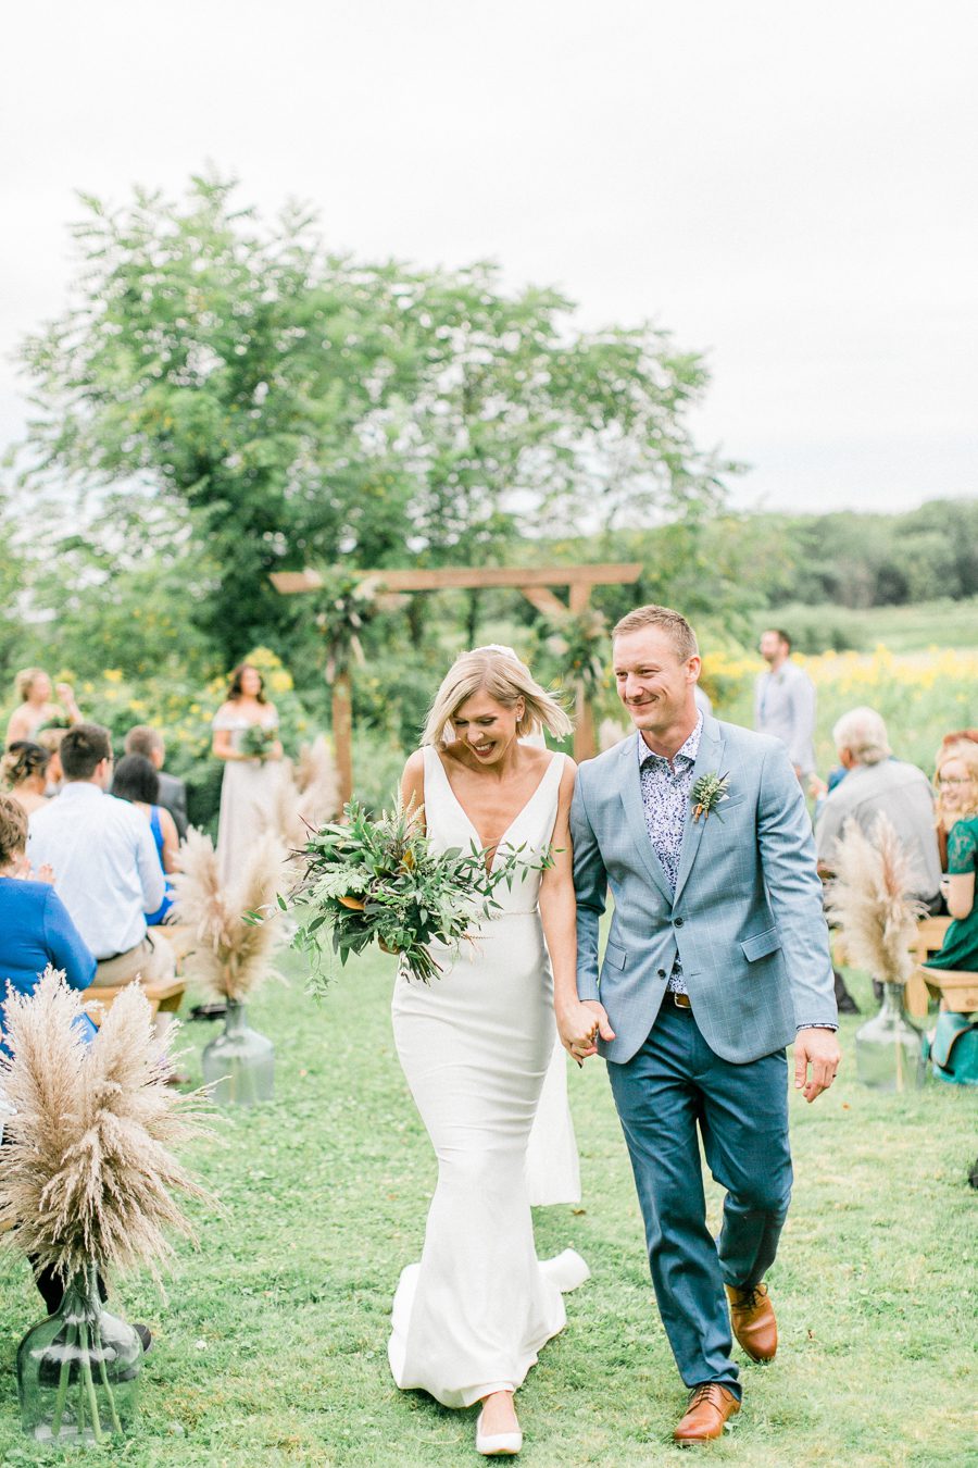
[[204, 1092], [167, 1086], [176, 1025], [155, 1033], [138, 984], [119, 992], [91, 1045], [76, 1023], [82, 1003], [50, 967], [34, 994], [7, 997], [13, 1054], [0, 1079], [15, 1114], [0, 1147], [0, 1227], [66, 1283], [91, 1264], [103, 1276], [144, 1264], [160, 1284], [167, 1235], [194, 1238], [179, 1195], [214, 1202], [172, 1151], [211, 1135]]

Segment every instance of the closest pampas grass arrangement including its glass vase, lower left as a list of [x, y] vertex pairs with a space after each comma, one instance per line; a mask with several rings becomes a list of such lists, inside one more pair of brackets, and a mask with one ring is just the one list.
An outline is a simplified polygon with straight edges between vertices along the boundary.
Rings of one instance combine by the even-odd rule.
[[10, 992], [0, 1082], [13, 1113], [0, 1147], [0, 1227], [38, 1274], [57, 1276], [54, 1314], [18, 1348], [23, 1430], [43, 1443], [101, 1443], [138, 1417], [144, 1340], [103, 1304], [104, 1280], [135, 1264], [161, 1286], [170, 1235], [194, 1238], [183, 1198], [211, 1199], [173, 1154], [208, 1136], [201, 1094], [166, 1083], [167, 1048], [138, 984], [91, 1044], [82, 997], [47, 969]]

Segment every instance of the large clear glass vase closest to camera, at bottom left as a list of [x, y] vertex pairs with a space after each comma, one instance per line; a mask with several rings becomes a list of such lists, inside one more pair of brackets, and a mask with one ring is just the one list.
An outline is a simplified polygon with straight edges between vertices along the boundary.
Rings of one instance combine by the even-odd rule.
[[133, 1430], [142, 1342], [98, 1298], [91, 1265], [18, 1348], [23, 1431], [40, 1443], [101, 1443]]

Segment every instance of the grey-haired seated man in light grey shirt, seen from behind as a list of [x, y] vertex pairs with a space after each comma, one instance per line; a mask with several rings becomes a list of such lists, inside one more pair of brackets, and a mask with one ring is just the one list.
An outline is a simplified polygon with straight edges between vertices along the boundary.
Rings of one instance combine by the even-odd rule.
[[893, 825], [911, 863], [912, 888], [931, 912], [940, 906], [941, 869], [934, 831], [934, 793], [922, 769], [893, 759], [886, 724], [875, 709], [843, 713], [831, 731], [846, 778], [831, 790], [815, 818], [818, 871], [831, 876], [836, 843], [855, 818], [871, 837], [880, 815]]

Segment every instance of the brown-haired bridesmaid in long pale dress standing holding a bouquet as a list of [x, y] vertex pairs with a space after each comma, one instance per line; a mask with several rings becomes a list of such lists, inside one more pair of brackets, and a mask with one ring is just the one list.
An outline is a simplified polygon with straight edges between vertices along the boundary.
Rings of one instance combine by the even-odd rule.
[[274, 807], [282, 744], [279, 715], [265, 697], [261, 674], [242, 662], [230, 675], [227, 699], [214, 715], [211, 752], [224, 760], [217, 859], [223, 882], [248, 860]]

